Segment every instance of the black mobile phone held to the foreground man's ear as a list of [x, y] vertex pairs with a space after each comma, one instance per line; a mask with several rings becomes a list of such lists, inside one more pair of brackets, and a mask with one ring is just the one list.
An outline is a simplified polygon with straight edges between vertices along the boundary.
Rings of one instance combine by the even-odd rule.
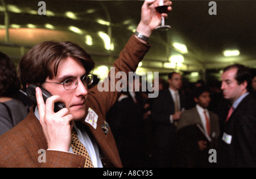
[[[43, 94], [43, 99], [44, 99], [44, 103], [46, 103], [46, 99], [51, 97], [52, 94], [49, 93], [46, 89], [43, 89], [42, 86], [38, 86], [38, 85], [35, 85], [35, 84], [32, 84], [32, 85], [28, 85], [27, 87], [27, 90], [26, 90], [26, 93], [27, 93], [27, 96], [28, 98], [31, 99], [31, 101], [34, 103], [34, 105], [37, 105], [37, 102], [36, 102], [36, 92], [35, 92], [35, 89], [39, 87], [41, 90], [42, 90], [42, 94]], [[63, 109], [65, 107], [65, 105], [61, 102], [56, 102], [54, 104], [54, 112], [57, 113], [57, 111]]]

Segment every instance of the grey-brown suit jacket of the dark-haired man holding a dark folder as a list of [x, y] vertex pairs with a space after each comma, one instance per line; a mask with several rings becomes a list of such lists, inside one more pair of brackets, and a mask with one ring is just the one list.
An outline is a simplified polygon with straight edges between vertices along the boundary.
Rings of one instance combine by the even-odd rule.
[[177, 140], [176, 140], [176, 165], [179, 167], [204, 167], [213, 166], [208, 161], [209, 149], [217, 149], [217, 138], [220, 134], [220, 126], [218, 116], [209, 111], [210, 117], [210, 138], [212, 141], [208, 143], [208, 147], [204, 151], [199, 150], [197, 144], [201, 140], [201, 135], [198, 128], [195, 126], [201, 122], [199, 113], [196, 107], [184, 111], [180, 116], [180, 121], [177, 126]]

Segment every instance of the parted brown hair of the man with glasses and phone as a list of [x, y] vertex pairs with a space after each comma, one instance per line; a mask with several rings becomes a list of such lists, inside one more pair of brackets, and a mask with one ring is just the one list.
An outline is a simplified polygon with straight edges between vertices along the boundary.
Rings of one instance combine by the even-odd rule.
[[42, 84], [47, 77], [55, 77], [60, 61], [67, 57], [81, 60], [86, 74], [94, 68], [92, 58], [79, 45], [71, 41], [43, 41], [35, 45], [19, 61], [18, 74], [23, 88], [26, 89], [27, 83]]

